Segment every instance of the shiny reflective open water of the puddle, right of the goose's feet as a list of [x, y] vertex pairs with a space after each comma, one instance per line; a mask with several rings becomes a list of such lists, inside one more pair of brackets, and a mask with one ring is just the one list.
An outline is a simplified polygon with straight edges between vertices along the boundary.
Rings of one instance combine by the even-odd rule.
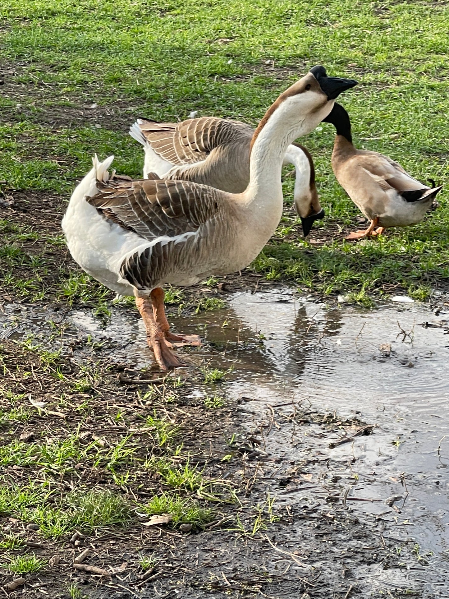
[[[231, 397], [254, 398], [245, 404], [245, 418], [253, 419], [248, 429], [257, 429], [268, 406], [292, 399], [374, 424], [374, 434], [356, 437], [354, 443], [330, 449], [327, 441], [317, 440], [314, 446], [309, 440], [307, 451], [340, 462], [335, 474], [347, 485], [351, 507], [380, 517], [389, 512], [386, 519], [398, 544], [412, 537], [421, 553], [435, 553], [445, 571], [449, 314], [436, 316], [423, 305], [393, 303], [374, 311], [326, 310], [289, 292], [238, 294], [230, 306], [220, 314], [200, 315], [196, 324], [207, 324], [207, 340], [225, 349], [213, 364], [235, 363]], [[422, 326], [426, 322], [427, 328]], [[177, 325], [188, 323], [180, 319]], [[272, 429], [265, 449], [286, 461], [298, 459], [303, 441], [281, 427]], [[313, 481], [296, 495], [277, 491], [277, 500], [286, 504], [326, 494]], [[398, 512], [384, 503], [393, 495], [403, 497], [395, 503]], [[386, 580], [390, 575], [372, 576]], [[436, 579], [446, 576], [443, 572]]]

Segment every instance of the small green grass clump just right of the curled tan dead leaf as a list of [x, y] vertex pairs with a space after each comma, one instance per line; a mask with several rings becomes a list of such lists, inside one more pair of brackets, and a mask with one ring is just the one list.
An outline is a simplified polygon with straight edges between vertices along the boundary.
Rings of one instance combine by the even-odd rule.
[[153, 497], [145, 506], [145, 512], [151, 516], [170, 514], [175, 526], [191, 524], [193, 528], [202, 528], [214, 519], [214, 510], [201, 507], [198, 501], [166, 493]]

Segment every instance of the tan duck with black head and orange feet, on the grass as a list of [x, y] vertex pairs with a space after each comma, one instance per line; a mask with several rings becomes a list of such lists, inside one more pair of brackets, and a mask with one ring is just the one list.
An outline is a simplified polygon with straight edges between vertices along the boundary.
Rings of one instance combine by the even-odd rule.
[[332, 152], [336, 180], [370, 221], [367, 229], [354, 231], [345, 238], [356, 240], [380, 235], [392, 226], [420, 222], [442, 186], [436, 187], [431, 181], [429, 187], [413, 179], [388, 156], [357, 150], [352, 141], [350, 118], [340, 104], [335, 103], [323, 120], [336, 128]]

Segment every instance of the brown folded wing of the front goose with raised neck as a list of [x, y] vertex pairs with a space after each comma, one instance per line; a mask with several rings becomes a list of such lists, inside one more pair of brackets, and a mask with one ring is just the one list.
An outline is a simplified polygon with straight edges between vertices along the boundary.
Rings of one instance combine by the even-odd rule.
[[107, 219], [145, 240], [198, 231], [223, 207], [223, 192], [190, 181], [122, 177], [97, 181], [86, 200]]

